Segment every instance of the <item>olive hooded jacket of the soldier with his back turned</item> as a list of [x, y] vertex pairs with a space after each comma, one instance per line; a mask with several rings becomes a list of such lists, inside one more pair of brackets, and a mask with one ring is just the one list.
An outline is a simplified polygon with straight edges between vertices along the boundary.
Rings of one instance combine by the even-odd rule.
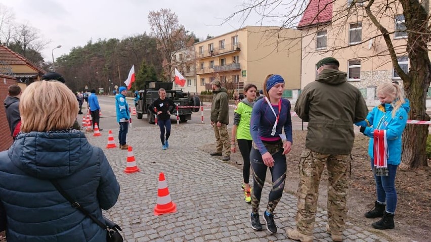
[[308, 123], [306, 147], [321, 154], [352, 152], [353, 124], [363, 121], [367, 106], [358, 88], [346, 80], [345, 72], [324, 69], [308, 84], [295, 104], [296, 114]]

